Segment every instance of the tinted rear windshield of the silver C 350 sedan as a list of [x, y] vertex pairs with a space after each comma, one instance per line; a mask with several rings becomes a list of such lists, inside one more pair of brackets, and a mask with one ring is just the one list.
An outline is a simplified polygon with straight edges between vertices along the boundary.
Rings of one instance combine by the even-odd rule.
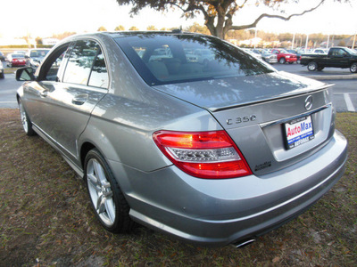
[[165, 85], [274, 71], [212, 36], [137, 35], [115, 38], [148, 85]]

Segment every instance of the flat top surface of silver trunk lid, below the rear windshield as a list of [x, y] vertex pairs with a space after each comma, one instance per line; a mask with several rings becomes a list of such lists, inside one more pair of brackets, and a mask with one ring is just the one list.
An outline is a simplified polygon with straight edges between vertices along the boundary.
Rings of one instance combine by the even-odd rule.
[[154, 89], [203, 109], [217, 111], [307, 93], [324, 86], [316, 80], [280, 71], [257, 76], [156, 85]]

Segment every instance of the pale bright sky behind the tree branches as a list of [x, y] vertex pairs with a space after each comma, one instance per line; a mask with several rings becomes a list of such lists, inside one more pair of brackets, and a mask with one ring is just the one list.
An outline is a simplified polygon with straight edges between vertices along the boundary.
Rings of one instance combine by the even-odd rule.
[[[50, 37], [65, 31], [94, 32], [104, 26], [107, 30], [114, 30], [122, 25], [125, 29], [136, 26], [145, 30], [147, 26], [156, 28], [186, 28], [198, 22], [203, 25], [203, 16], [186, 20], [181, 18], [179, 10], [170, 12], [154, 12], [145, 9], [138, 15], [130, 17], [130, 6], [119, 6], [115, 0], [3, 0], [2, 24], [0, 37], [29, 36]], [[237, 0], [238, 2], [241, 0]], [[290, 4], [286, 8], [289, 12], [301, 12], [309, 9], [319, 0], [300, 0], [299, 4]], [[292, 20], [263, 19], [257, 29], [266, 32], [290, 33], [324, 33], [330, 35], [357, 32], [357, 0], [350, 0], [350, 4], [337, 4], [328, 0], [314, 12], [295, 17]], [[253, 0], [252, 3], [255, 3]], [[271, 9], [247, 5], [244, 12], [238, 12], [234, 17], [234, 24], [246, 24], [259, 16], [262, 12], [272, 12]]]

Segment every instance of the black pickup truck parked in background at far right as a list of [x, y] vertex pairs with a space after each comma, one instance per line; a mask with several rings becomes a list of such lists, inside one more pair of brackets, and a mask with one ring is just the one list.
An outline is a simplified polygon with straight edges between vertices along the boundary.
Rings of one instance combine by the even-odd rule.
[[331, 47], [328, 54], [303, 54], [301, 64], [310, 71], [332, 67], [349, 68], [352, 73], [357, 73], [357, 53], [347, 47]]

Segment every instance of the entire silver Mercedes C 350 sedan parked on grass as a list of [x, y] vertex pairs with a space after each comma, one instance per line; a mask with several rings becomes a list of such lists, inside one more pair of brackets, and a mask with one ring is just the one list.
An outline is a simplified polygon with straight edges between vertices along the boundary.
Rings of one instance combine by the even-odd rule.
[[[187, 61], [187, 51], [212, 57]], [[71, 36], [16, 77], [27, 81], [17, 92], [25, 132], [84, 178], [107, 231], [137, 222], [241, 246], [301, 214], [344, 174], [330, 85], [213, 36]]]

